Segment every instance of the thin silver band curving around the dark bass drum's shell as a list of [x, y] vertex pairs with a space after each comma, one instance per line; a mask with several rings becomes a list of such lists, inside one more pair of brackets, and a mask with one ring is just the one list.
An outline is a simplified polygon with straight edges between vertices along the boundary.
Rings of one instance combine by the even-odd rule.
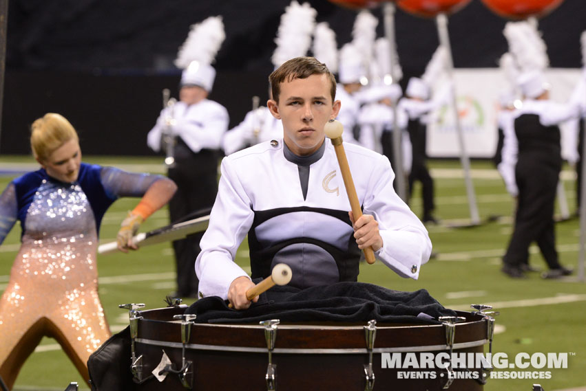
[[[139, 344], [164, 346], [169, 348], [182, 348], [183, 344], [180, 342], [161, 342], [154, 339], [137, 338], [136, 342]], [[454, 350], [473, 348], [475, 346], [483, 346], [488, 343], [488, 339], [480, 339], [478, 341], [460, 342], [454, 344]], [[244, 348], [238, 346], [219, 346], [219, 345], [202, 345], [202, 344], [186, 344], [185, 348], [193, 350], [218, 350], [224, 352], [248, 352], [248, 353], [266, 353], [266, 348]], [[429, 352], [435, 350], [449, 350], [448, 345], [428, 345], [428, 346], [401, 346], [400, 348], [374, 348], [373, 353], [402, 353], [402, 352]], [[273, 353], [276, 354], [303, 354], [303, 355], [337, 355], [337, 354], [368, 354], [368, 350], [364, 349], [292, 349], [292, 348], [274, 348]]]

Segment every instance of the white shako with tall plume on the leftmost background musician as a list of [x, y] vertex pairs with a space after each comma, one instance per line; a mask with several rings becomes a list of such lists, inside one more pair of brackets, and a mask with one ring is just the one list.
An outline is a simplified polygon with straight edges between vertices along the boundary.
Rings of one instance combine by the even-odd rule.
[[216, 69], [211, 63], [224, 42], [224, 23], [221, 16], [210, 16], [201, 23], [191, 25], [187, 39], [179, 48], [175, 65], [183, 69], [181, 86], [196, 85], [210, 92]]

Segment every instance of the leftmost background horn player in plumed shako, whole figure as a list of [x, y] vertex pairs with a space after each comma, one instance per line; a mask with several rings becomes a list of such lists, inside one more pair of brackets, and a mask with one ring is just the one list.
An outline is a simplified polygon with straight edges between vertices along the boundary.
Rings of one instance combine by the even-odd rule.
[[[174, 139], [174, 166], [168, 168], [168, 175], [177, 183], [178, 190], [169, 203], [171, 223], [213, 205], [218, 191], [220, 147], [229, 123], [228, 111], [207, 99], [216, 78], [216, 70], [210, 63], [224, 40], [220, 16], [193, 25], [192, 30], [176, 60], [178, 67], [185, 68], [181, 74], [179, 101], [161, 111], [147, 136], [148, 146], [156, 152], [163, 149], [161, 139], [166, 131]], [[174, 295], [197, 297], [194, 265], [201, 236], [193, 234], [173, 242], [177, 268]]]

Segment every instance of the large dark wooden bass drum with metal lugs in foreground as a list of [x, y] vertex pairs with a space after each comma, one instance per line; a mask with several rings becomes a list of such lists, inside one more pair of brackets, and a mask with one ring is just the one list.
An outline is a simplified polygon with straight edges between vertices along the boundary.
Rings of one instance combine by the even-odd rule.
[[[383, 368], [386, 354], [483, 353], [488, 343], [492, 353], [496, 313], [473, 307], [441, 324], [196, 324], [195, 315], [184, 315], [185, 305], [147, 311], [129, 305], [130, 370], [137, 389], [146, 391], [482, 390], [490, 363], [477, 370], [478, 379], [462, 379], [454, 373], [466, 369], [450, 366], [433, 369], [435, 376], [425, 375], [429, 369]], [[163, 355], [171, 364], [160, 364]]]

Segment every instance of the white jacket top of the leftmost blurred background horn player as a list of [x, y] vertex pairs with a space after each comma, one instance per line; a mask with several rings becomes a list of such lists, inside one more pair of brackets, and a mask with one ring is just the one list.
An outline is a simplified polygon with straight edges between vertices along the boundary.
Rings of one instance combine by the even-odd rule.
[[201, 100], [187, 105], [177, 102], [173, 107], [160, 112], [157, 122], [147, 136], [147, 145], [158, 152], [160, 138], [167, 127], [167, 118], [175, 122], [170, 126], [171, 134], [181, 137], [193, 153], [202, 149], [220, 149], [222, 135], [228, 129], [228, 111], [218, 102]]

